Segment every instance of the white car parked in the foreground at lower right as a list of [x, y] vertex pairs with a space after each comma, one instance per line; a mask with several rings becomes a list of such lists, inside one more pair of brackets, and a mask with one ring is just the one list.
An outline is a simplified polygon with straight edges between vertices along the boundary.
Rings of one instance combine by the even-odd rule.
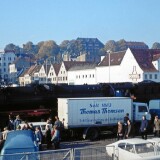
[[140, 138], [119, 140], [106, 146], [107, 155], [114, 160], [160, 160], [153, 143]]

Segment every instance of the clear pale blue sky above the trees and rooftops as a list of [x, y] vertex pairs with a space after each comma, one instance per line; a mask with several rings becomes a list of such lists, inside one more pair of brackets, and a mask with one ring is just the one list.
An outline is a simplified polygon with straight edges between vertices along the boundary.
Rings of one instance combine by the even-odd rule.
[[160, 0], [0, 0], [0, 49], [98, 38], [160, 43]]

